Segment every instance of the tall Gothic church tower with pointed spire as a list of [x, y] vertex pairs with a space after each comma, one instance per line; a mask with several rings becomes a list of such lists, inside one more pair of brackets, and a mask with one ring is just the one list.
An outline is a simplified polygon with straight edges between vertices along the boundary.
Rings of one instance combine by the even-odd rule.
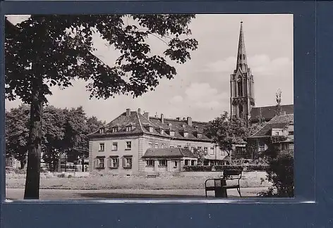
[[241, 22], [241, 30], [239, 32], [236, 70], [231, 74], [230, 87], [231, 117], [244, 118], [248, 125], [251, 108], [255, 106], [255, 99], [253, 75], [250, 68], [248, 68], [248, 59], [246, 57], [243, 22]]

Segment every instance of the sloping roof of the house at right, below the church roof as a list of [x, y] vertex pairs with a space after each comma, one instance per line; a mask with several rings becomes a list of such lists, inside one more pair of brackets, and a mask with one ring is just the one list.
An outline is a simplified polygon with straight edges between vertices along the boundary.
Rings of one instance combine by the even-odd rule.
[[264, 127], [262, 127], [258, 132], [255, 132], [250, 138], [256, 137], [267, 137], [271, 135], [271, 131], [273, 128], [284, 128], [289, 123], [293, 121], [293, 114], [286, 114], [286, 115], [277, 115], [272, 120], [267, 122]]

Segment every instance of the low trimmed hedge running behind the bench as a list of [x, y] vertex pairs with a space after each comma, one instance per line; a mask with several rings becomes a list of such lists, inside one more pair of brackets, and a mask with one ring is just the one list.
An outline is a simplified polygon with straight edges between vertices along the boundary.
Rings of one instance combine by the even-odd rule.
[[210, 172], [214, 167], [215, 171], [222, 172], [223, 170], [244, 170], [247, 171], [266, 171], [268, 165], [197, 165], [197, 166], [184, 166], [186, 172]]

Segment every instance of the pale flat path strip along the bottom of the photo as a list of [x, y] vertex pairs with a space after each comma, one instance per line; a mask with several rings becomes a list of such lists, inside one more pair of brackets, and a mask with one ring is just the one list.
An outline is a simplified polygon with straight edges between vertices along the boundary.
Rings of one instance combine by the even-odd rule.
[[[244, 188], [242, 196], [254, 197], [257, 192], [267, 188]], [[24, 189], [6, 189], [6, 198], [11, 200], [23, 199]], [[209, 196], [214, 196], [210, 192]], [[229, 197], [239, 197], [236, 189], [228, 190]], [[79, 200], [79, 199], [111, 199], [111, 198], [205, 198], [203, 189], [110, 189], [110, 190], [68, 190], [68, 189], [41, 189], [41, 200]]]

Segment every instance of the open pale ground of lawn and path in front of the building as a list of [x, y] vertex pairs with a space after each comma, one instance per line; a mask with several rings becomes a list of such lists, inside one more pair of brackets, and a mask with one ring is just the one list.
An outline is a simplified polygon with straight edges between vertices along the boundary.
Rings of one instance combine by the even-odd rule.
[[[40, 199], [92, 199], [92, 198], [203, 198], [207, 177], [127, 177], [90, 175], [73, 177], [59, 173], [42, 173]], [[234, 181], [231, 181], [231, 183]], [[24, 174], [6, 174], [6, 198], [23, 199]], [[257, 196], [270, 186], [258, 177], [241, 179], [241, 194]], [[213, 196], [214, 192], [209, 192]], [[236, 189], [228, 190], [229, 197], [237, 197]]]

